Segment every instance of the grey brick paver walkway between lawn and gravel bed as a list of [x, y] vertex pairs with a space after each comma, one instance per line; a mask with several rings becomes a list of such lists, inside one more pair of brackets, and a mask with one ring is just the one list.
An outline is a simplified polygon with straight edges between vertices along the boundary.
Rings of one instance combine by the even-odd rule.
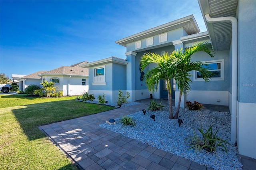
[[40, 129], [85, 170], [211, 169], [98, 126], [110, 118], [146, 109], [149, 100], [138, 102], [139, 105], [44, 125]]

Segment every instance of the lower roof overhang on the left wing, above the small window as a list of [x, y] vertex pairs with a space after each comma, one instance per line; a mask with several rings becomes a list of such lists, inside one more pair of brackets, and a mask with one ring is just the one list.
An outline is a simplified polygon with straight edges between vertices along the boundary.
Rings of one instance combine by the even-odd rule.
[[118, 58], [118, 57], [108, 57], [108, 58], [105, 58], [105, 59], [101, 59], [101, 60], [98, 60], [98, 61], [93, 61], [93, 62], [90, 62], [90, 63], [86, 63], [84, 65], [80, 65], [80, 67], [89, 68], [89, 67], [94, 67], [94, 66], [97, 66], [97, 65], [104, 65], [104, 64], [108, 64], [108, 63], [117, 63], [117, 64], [121, 64], [121, 65], [126, 65], [129, 62], [126, 61], [125, 59], [121, 59], [121, 58]]

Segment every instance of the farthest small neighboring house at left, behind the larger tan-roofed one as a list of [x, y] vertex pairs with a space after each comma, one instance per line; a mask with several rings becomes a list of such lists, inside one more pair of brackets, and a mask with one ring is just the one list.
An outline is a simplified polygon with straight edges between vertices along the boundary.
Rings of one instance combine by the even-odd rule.
[[26, 87], [28, 87], [29, 85], [38, 85], [39, 87], [42, 87], [42, 85], [40, 84], [42, 82], [42, 76], [38, 75], [44, 72], [46, 71], [38, 71], [36, 73], [32, 73], [18, 78], [20, 91], [25, 91]]

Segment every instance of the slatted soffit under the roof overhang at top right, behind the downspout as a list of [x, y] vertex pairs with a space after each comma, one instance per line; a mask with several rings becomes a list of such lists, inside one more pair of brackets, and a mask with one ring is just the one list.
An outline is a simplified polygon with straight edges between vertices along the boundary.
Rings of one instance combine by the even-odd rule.
[[230, 22], [209, 23], [205, 15], [211, 18], [233, 16], [236, 17], [238, 0], [198, 0], [212, 46], [216, 51], [230, 49], [232, 39], [232, 25]]

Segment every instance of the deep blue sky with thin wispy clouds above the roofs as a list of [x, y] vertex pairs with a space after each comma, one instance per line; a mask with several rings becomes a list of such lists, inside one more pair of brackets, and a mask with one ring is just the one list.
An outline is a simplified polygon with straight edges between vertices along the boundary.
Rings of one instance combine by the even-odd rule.
[[0, 1], [0, 73], [28, 75], [116, 56], [115, 43], [193, 14], [206, 31], [197, 0]]

